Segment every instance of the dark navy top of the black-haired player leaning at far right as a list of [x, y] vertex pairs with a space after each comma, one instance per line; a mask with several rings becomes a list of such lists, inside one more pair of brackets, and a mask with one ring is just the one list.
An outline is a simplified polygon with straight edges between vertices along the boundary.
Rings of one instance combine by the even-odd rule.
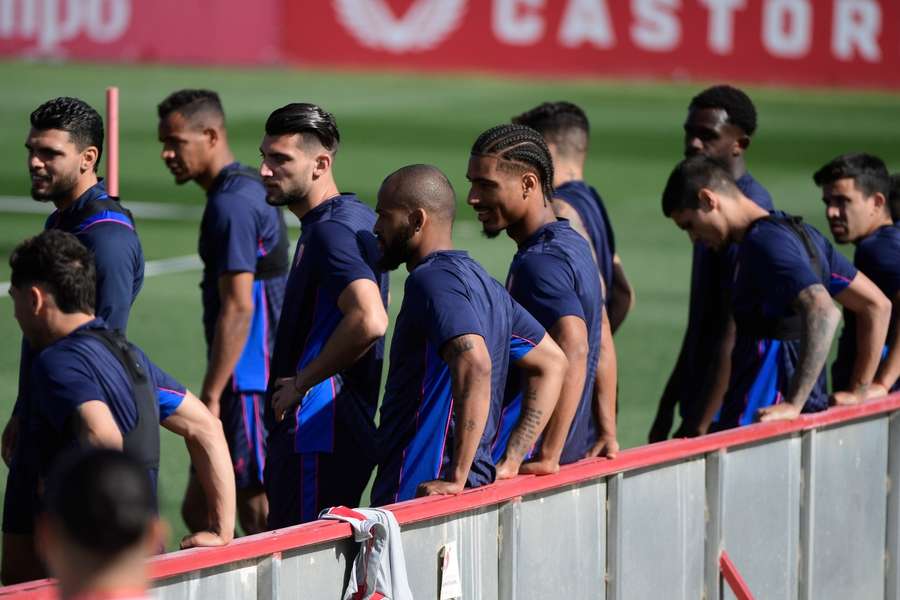
[[[900, 227], [886, 225], [856, 244], [854, 266], [865, 273], [878, 289], [893, 301], [900, 291]], [[888, 339], [891, 335], [888, 334]], [[887, 356], [888, 347], [884, 348]], [[838, 341], [838, 354], [831, 365], [831, 385], [834, 391], [847, 390], [856, 360], [856, 315], [844, 310], [844, 329]], [[900, 390], [900, 381], [890, 389]]]

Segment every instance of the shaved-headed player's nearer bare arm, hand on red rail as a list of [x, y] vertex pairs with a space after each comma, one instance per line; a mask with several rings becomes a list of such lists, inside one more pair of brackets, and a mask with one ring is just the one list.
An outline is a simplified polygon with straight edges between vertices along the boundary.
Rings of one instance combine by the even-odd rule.
[[455, 337], [441, 348], [441, 357], [450, 369], [453, 389], [453, 456], [446, 479], [419, 484], [417, 496], [457, 494], [465, 488], [491, 408], [491, 355], [484, 338]]

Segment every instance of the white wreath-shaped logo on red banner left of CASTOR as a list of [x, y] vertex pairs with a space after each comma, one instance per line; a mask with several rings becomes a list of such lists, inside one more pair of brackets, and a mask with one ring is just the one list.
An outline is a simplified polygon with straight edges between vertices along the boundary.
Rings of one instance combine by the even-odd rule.
[[334, 0], [337, 19], [363, 46], [395, 54], [430, 50], [459, 27], [466, 0], [415, 0], [400, 16], [385, 0]]

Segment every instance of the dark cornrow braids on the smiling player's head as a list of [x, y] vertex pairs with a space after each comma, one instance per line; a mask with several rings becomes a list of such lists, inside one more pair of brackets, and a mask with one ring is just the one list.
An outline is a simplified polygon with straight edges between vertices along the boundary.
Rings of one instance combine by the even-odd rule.
[[491, 127], [475, 140], [472, 156], [496, 156], [511, 165], [534, 169], [544, 201], [553, 197], [553, 159], [543, 136], [531, 127], [512, 123]]

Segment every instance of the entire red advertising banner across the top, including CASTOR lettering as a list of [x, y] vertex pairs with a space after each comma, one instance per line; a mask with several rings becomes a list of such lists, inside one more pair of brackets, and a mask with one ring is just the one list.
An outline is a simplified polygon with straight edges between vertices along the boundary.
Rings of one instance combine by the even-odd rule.
[[0, 56], [900, 88], [900, 2], [0, 0]]

